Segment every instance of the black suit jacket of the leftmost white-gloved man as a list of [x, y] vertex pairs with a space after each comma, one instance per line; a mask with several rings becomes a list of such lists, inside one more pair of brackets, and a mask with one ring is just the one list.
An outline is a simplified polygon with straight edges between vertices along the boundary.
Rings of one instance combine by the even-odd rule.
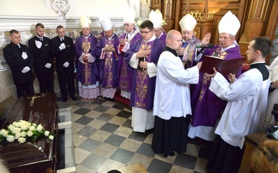
[[[13, 82], [15, 84], [24, 84], [35, 79], [32, 72], [34, 64], [33, 55], [26, 45], [20, 44], [20, 47], [21, 48], [16, 44], [13, 44], [13, 42], [10, 42], [10, 44], [3, 48], [4, 58], [10, 66], [13, 75]], [[25, 52], [28, 55], [25, 60], [22, 57], [22, 52]], [[31, 70], [27, 73], [22, 73], [25, 66], [28, 66]]]

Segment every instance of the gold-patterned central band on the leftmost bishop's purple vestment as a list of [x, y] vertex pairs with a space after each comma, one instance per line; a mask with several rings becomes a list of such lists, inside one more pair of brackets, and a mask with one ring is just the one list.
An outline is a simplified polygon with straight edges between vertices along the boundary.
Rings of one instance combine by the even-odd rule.
[[[87, 54], [90, 51], [91, 47], [91, 38], [82, 38], [82, 51]], [[85, 68], [83, 69], [84, 81], [83, 84], [92, 84], [91, 83], [91, 65], [90, 63], [85, 62]]]

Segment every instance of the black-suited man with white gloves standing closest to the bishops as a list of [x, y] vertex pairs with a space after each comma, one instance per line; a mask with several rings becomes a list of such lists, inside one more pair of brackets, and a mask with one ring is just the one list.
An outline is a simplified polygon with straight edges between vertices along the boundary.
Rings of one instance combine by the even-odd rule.
[[65, 28], [63, 26], [57, 26], [56, 33], [58, 36], [51, 39], [51, 55], [55, 56], [56, 72], [58, 74], [63, 102], [67, 102], [67, 91], [70, 98], [76, 100], [74, 96], [74, 42], [71, 37], [65, 36]]

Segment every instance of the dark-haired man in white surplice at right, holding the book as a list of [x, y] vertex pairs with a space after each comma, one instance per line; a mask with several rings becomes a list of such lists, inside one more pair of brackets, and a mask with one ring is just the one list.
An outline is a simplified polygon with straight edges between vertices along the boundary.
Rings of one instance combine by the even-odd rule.
[[245, 136], [262, 130], [270, 86], [265, 57], [270, 48], [268, 37], [253, 39], [246, 51], [250, 70], [238, 79], [230, 73], [227, 80], [215, 68], [214, 73], [208, 75], [211, 78], [208, 89], [219, 98], [228, 100], [215, 130], [213, 149], [206, 165], [211, 172], [238, 172]]

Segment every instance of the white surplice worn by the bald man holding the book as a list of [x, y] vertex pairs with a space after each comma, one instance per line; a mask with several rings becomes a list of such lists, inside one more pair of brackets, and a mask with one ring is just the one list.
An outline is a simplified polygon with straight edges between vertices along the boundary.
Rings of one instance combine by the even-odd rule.
[[197, 66], [185, 70], [179, 57], [169, 51], [161, 53], [157, 64], [154, 116], [170, 120], [191, 115], [189, 84], [198, 81]]

